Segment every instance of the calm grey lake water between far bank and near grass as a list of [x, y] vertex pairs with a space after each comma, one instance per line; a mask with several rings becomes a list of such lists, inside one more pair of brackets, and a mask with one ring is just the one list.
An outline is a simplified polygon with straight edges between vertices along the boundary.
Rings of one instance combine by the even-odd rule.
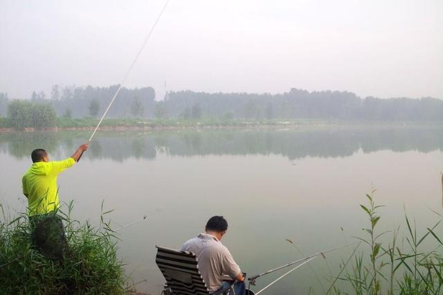
[[[24, 210], [21, 175], [30, 152], [69, 156], [86, 132], [0, 134], [0, 198]], [[248, 275], [297, 260], [363, 235], [359, 204], [377, 188], [381, 229], [404, 223], [404, 206], [420, 226], [442, 212], [443, 129], [341, 128], [318, 130], [211, 130], [201, 132], [98, 132], [80, 163], [59, 178], [60, 198], [75, 199], [74, 216], [98, 222], [100, 204], [121, 231], [120, 255], [138, 289], [160, 294], [163, 278], [155, 244], [178, 248], [204, 230], [208, 217], [224, 215], [222, 240]], [[343, 232], [341, 231], [343, 228]], [[422, 229], [426, 229], [422, 227]], [[298, 269], [264, 294], [316, 294], [338, 272], [343, 249]], [[282, 274], [282, 273], [279, 273]], [[262, 278], [255, 290], [276, 276]], [[323, 285], [323, 287], [322, 287]]]

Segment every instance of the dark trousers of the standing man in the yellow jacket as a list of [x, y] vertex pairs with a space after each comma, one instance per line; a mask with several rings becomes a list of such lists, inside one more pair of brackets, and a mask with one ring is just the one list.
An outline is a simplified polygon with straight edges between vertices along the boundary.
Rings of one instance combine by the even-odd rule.
[[51, 260], [61, 260], [68, 249], [62, 218], [55, 213], [29, 217], [31, 245]]

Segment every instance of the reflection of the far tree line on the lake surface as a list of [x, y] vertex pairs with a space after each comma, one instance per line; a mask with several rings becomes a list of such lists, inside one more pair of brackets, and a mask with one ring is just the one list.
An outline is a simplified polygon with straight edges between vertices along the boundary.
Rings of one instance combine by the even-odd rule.
[[[71, 152], [88, 132], [17, 132], [0, 134], [0, 150], [18, 159], [43, 147], [51, 154]], [[210, 130], [177, 132], [100, 132], [87, 153], [89, 159], [125, 161], [155, 159], [157, 152], [192, 157], [210, 154], [280, 154], [290, 160], [303, 157], [349, 157], [362, 150], [404, 152], [442, 150], [443, 129], [341, 128], [322, 130]]]

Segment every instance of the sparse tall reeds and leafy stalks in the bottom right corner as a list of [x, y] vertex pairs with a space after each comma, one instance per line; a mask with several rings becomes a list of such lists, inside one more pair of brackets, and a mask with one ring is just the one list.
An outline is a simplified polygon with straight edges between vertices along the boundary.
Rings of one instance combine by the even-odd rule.
[[[356, 237], [365, 248], [342, 261], [327, 294], [443, 294], [443, 242], [436, 231], [441, 220], [420, 235], [405, 213], [406, 231], [401, 239], [400, 228], [379, 233], [379, 210], [383, 206], [375, 204], [374, 192], [366, 197], [368, 204], [361, 205], [361, 209], [369, 226], [363, 229], [363, 237]], [[390, 242], [386, 244], [382, 240], [387, 235]], [[337, 282], [341, 282], [341, 287]]]

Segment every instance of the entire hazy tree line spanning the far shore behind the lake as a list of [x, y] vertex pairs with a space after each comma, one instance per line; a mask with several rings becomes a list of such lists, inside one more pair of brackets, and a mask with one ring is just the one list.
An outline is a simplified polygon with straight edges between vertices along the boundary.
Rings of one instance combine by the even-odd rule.
[[[30, 101], [50, 105], [57, 116], [97, 117], [105, 111], [118, 85], [109, 87], [60, 87], [51, 94], [33, 92]], [[0, 116], [10, 100], [0, 93]], [[170, 91], [155, 100], [152, 87], [123, 88], [108, 118], [221, 118], [221, 119], [337, 119], [364, 121], [442, 121], [443, 100], [437, 98], [360, 98], [347, 91], [291, 89], [269, 93], [205, 93]]]

